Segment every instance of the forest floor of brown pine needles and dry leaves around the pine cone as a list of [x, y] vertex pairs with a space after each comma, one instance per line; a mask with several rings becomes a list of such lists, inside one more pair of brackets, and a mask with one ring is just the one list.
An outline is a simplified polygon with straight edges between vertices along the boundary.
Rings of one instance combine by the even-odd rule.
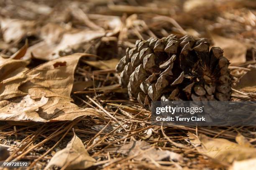
[[231, 100], [256, 100], [255, 0], [0, 0], [0, 159], [35, 170], [255, 169], [254, 126], [152, 125], [120, 87], [125, 49], [170, 34], [221, 47]]

